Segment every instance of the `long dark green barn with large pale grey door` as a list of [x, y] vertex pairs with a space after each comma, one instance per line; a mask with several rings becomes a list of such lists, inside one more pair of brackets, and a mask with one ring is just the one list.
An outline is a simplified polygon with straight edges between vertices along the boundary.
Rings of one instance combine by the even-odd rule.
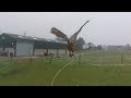
[[44, 56], [45, 53], [66, 54], [66, 42], [52, 39], [3, 33], [0, 35], [0, 52], [13, 52], [16, 57]]

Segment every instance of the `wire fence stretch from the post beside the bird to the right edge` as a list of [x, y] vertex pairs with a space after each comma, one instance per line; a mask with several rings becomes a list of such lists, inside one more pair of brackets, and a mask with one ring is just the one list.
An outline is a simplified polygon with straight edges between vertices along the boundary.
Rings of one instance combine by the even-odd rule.
[[83, 54], [81, 56], [81, 64], [82, 63], [93, 65], [131, 65], [131, 56], [90, 57]]

